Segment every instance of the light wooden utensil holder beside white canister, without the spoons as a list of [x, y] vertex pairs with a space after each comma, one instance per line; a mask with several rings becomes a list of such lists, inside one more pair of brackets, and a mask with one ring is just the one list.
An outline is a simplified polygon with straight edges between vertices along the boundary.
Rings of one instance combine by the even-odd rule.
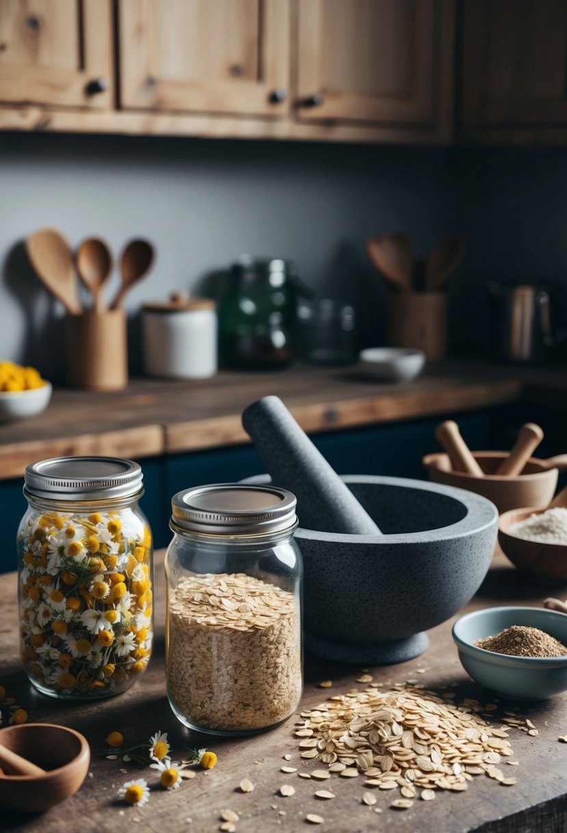
[[66, 321], [67, 381], [94, 391], [120, 391], [128, 384], [124, 310], [87, 310]]

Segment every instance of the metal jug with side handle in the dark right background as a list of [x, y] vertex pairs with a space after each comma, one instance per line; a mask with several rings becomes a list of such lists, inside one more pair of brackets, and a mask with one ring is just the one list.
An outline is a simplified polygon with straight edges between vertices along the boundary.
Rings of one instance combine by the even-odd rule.
[[538, 364], [554, 346], [550, 287], [489, 282], [491, 352], [503, 362]]

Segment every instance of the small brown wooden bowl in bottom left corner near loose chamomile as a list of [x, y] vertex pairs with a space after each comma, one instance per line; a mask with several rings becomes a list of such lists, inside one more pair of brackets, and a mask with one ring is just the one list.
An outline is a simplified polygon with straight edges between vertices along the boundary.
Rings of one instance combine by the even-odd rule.
[[0, 743], [42, 769], [44, 776], [0, 775], [0, 806], [41, 812], [72, 796], [91, 762], [91, 749], [81, 734], [51, 723], [22, 723], [0, 729]]

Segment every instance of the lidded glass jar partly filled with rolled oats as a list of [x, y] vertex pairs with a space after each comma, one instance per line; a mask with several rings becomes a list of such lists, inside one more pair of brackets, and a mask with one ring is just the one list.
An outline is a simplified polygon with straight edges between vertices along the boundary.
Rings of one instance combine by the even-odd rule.
[[171, 500], [167, 693], [190, 729], [251, 735], [298, 706], [303, 567], [295, 505], [276, 486], [235, 483]]

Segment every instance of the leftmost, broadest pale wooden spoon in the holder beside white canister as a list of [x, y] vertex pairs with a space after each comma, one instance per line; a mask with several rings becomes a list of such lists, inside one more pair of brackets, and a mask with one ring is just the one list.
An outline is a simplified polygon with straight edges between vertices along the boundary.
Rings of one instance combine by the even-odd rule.
[[42, 284], [62, 302], [67, 312], [78, 315], [81, 306], [67, 240], [54, 228], [42, 228], [27, 237], [26, 252]]

